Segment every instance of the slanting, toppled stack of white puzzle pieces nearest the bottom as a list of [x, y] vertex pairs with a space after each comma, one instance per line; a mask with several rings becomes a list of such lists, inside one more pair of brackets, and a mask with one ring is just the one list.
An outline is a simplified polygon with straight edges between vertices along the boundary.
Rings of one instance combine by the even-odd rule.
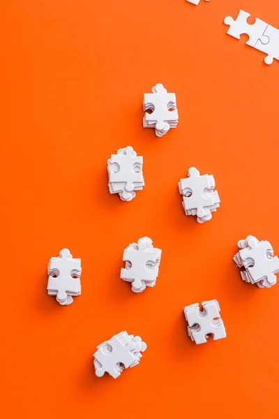
[[140, 363], [142, 352], [147, 346], [140, 336], [120, 332], [109, 341], [97, 346], [93, 354], [96, 376], [102, 377], [105, 372], [118, 378], [125, 368], [132, 368]]

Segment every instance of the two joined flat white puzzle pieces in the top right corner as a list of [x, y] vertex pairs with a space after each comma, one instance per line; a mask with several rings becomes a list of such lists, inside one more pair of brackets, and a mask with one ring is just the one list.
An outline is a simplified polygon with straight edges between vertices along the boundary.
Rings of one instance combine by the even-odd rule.
[[240, 10], [236, 20], [230, 16], [225, 17], [224, 23], [229, 25], [227, 34], [236, 39], [240, 39], [242, 34], [247, 34], [249, 39], [246, 45], [264, 52], [265, 64], [272, 64], [273, 59], [279, 59], [279, 30], [258, 18], [255, 24], [248, 24], [248, 17], [250, 13], [244, 10]]

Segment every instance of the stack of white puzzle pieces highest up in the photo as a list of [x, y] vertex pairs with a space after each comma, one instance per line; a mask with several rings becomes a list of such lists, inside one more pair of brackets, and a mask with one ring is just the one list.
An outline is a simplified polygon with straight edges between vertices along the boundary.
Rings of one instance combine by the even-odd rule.
[[163, 137], [169, 128], [176, 128], [179, 114], [176, 109], [176, 96], [167, 93], [163, 84], [152, 87], [152, 93], [144, 93], [144, 128], [155, 128], [157, 137]]

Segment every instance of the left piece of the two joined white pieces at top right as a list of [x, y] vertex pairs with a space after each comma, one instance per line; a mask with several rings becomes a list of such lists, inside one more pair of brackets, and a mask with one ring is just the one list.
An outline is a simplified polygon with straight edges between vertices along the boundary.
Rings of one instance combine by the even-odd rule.
[[227, 34], [236, 39], [240, 39], [242, 34], [247, 34], [249, 39], [246, 44], [250, 45], [250, 47], [255, 47], [259, 39], [268, 42], [268, 39], [265, 40], [264, 38], [264, 31], [268, 24], [258, 18], [255, 20], [255, 24], [248, 24], [248, 17], [250, 17], [250, 13], [247, 13], [244, 10], [240, 10], [236, 20], [230, 16], [225, 17], [224, 23], [229, 25]]

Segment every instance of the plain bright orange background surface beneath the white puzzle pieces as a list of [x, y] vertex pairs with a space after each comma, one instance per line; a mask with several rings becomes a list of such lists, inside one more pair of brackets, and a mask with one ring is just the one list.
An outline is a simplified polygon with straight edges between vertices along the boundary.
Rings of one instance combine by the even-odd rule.
[[[277, 0], [1, 2], [1, 417], [278, 418], [279, 285], [241, 281], [248, 234], [279, 253], [279, 66], [227, 36], [239, 10], [277, 26]], [[252, 22], [252, 20], [251, 20]], [[179, 126], [142, 128], [143, 94], [176, 93]], [[146, 186], [110, 195], [106, 163], [132, 145]], [[220, 209], [186, 217], [177, 182], [213, 174]], [[119, 279], [123, 249], [163, 249], [156, 288]], [[47, 263], [82, 259], [82, 295], [47, 296]], [[216, 298], [227, 339], [196, 346], [183, 307]], [[96, 345], [127, 330], [140, 365], [97, 378]]]

